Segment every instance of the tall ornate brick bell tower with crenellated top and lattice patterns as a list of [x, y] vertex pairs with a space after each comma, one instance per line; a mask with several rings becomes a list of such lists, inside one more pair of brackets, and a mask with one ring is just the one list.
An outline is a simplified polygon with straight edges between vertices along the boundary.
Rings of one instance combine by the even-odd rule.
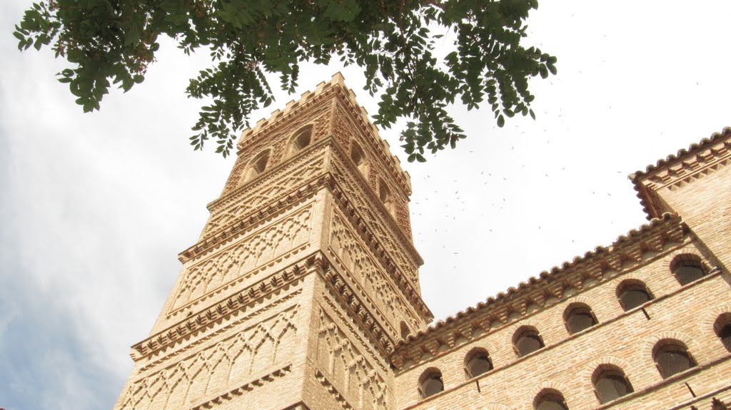
[[339, 73], [244, 131], [115, 410], [395, 409], [432, 318], [410, 193]]

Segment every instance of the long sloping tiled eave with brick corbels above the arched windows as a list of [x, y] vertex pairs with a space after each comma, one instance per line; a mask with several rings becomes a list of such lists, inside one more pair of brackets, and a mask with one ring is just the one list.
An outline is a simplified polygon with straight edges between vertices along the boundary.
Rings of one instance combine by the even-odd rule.
[[[666, 245], [681, 244], [687, 234], [688, 228], [678, 215], [664, 214], [639, 230], [621, 236], [609, 247], [596, 247], [593, 252], [574, 258], [571, 263], [552, 268], [550, 273], [544, 271], [538, 278], [531, 277], [527, 283], [520, 283], [517, 289], [511, 287], [507, 293], [499, 293], [495, 298], [488, 298], [486, 302], [437, 322], [405, 341], [399, 341], [391, 355], [391, 362], [402, 370], [407, 361], [413, 360], [413, 365], [417, 365], [424, 353], [434, 355], [443, 344], [450, 350], [455, 348], [460, 337], [467, 341], [482, 338], [494, 330], [493, 322], [498, 322], [498, 327], [502, 328], [531, 314], [527, 307], [532, 304], [545, 309], [572, 297], [575, 292], [643, 266], [645, 252], [660, 252]], [[484, 332], [475, 336], [474, 330], [477, 329]]]

